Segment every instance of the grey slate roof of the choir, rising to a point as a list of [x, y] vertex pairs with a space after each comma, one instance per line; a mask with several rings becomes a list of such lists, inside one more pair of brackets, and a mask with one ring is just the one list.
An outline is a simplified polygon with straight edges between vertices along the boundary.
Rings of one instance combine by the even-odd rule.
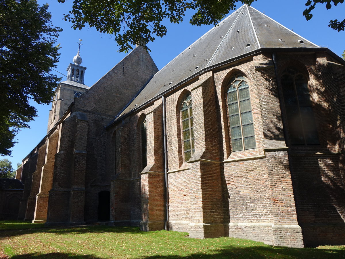
[[[159, 70], [115, 119], [152, 101], [199, 71], [261, 48], [318, 48], [258, 10], [244, 5]], [[304, 43], [300, 43], [302, 40]]]

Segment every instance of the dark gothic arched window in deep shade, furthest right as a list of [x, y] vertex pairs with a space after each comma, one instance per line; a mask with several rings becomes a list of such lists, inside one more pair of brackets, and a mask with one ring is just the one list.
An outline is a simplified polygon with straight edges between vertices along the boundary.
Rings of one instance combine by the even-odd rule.
[[308, 80], [298, 69], [287, 67], [281, 82], [291, 144], [319, 144]]

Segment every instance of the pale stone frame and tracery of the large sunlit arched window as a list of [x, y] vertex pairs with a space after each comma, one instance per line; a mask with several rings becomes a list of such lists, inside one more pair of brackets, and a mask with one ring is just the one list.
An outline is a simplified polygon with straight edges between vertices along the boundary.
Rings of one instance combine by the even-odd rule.
[[[238, 81], [238, 83], [236, 84], [236, 81]], [[242, 83], [245, 82], [247, 86], [244, 86]], [[244, 86], [244, 87], [241, 87]], [[231, 89], [231, 87], [235, 90], [233, 91], [229, 91]], [[241, 89], [238, 89], [239, 87], [241, 87]], [[252, 108], [252, 101], [251, 101], [251, 97], [250, 97], [250, 83], [249, 83], [249, 79], [243, 75], [242, 73], [236, 73], [233, 74], [229, 77], [229, 80], [227, 82], [227, 85], [225, 87], [225, 99], [226, 99], [226, 112], [227, 112], [227, 122], [228, 122], [228, 127], [229, 127], [229, 141], [230, 141], [230, 148], [231, 148], [231, 153], [232, 152], [243, 152], [246, 150], [253, 150], [257, 148], [257, 143], [256, 143], [256, 136], [255, 136], [255, 126], [254, 126], [254, 118], [253, 118], [253, 108]], [[239, 90], [242, 89], [248, 89], [248, 97], [249, 98], [244, 98], [241, 99], [239, 96]], [[229, 103], [229, 93], [234, 93], [236, 92], [236, 100]], [[250, 110], [244, 110], [243, 108], [241, 109], [241, 105], [240, 103], [244, 103], [245, 101], [247, 101], [248, 104], [248, 100], [249, 100], [249, 105], [250, 105]], [[238, 109], [238, 113], [234, 113], [234, 114], [230, 114], [229, 111], [229, 107], [230, 106], [236, 106], [237, 104], [237, 109]], [[242, 116], [238, 116], [239, 117], [239, 125], [233, 125], [231, 126], [231, 119], [230, 117], [235, 117], [236, 115], [242, 115], [245, 113], [251, 113], [251, 122], [246, 122], [244, 121], [244, 118], [242, 118]], [[249, 120], [250, 121], [250, 120]], [[233, 136], [231, 136], [231, 132], [233, 132], [233, 134], [235, 133], [234, 130], [235, 128], [239, 128], [240, 131], [237, 131], [237, 133], [240, 134], [240, 136], [237, 136], [236, 138], [233, 138]], [[244, 134], [244, 132], [246, 131], [248, 133], [248, 128], [251, 128], [251, 133], [250, 135]], [[245, 135], [245, 136], [244, 136]], [[249, 139], [251, 138], [253, 141], [252, 146], [248, 146], [248, 144], [246, 145], [245, 142], [245, 138]], [[234, 141], [238, 142], [238, 140], [240, 140], [240, 144], [242, 146], [241, 149], [235, 149], [234, 150]], [[247, 141], [248, 142], [248, 141]]]

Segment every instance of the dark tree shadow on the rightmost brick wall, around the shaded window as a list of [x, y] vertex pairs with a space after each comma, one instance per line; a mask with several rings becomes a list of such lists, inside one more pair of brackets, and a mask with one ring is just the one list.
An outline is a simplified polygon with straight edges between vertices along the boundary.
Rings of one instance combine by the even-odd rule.
[[[296, 60], [294, 65], [298, 67], [298, 64]], [[287, 139], [297, 219], [306, 246], [345, 244], [344, 72], [342, 66], [323, 59], [318, 60], [316, 66], [308, 67], [310, 80], [313, 80], [309, 85], [319, 145], [289, 144], [288, 134], [282, 127], [287, 122], [280, 82], [278, 87], [275, 82], [268, 82], [269, 93], [281, 99], [283, 116], [279, 112], [271, 114], [275, 122], [268, 126], [264, 137], [282, 140], [285, 136]], [[268, 78], [264, 71], [262, 76]]]

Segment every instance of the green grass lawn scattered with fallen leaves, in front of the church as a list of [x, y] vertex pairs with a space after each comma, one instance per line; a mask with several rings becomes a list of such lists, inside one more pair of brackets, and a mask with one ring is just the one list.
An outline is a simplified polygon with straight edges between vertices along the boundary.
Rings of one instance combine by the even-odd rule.
[[35, 224], [28, 229], [31, 225], [0, 221], [0, 259], [345, 258], [345, 246], [295, 249], [238, 238], [193, 239], [183, 232], [142, 232], [136, 227], [37, 228]]

